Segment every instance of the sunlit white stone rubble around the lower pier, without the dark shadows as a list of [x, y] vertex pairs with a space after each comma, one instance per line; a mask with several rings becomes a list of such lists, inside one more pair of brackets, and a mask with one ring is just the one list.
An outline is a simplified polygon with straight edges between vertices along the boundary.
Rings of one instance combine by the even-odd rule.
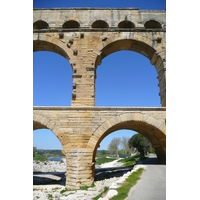
[[[53, 170], [61, 170], [62, 172], [66, 170], [66, 162], [54, 162], [47, 161], [45, 163], [33, 162], [33, 169], [38, 171], [47, 170], [48, 172]], [[113, 167], [116, 165], [116, 162], [107, 163], [104, 166]], [[40, 168], [39, 168], [40, 167]], [[55, 184], [55, 185], [34, 185], [33, 186], [33, 200], [48, 200], [52, 197], [55, 200], [92, 200], [94, 197], [104, 192], [104, 188], [108, 187], [109, 190], [104, 197], [100, 197], [99, 200], [108, 200], [117, 194], [117, 188], [125, 181], [125, 179], [136, 171], [139, 167], [145, 168], [144, 165], [135, 165], [132, 171], [127, 172], [122, 177], [114, 177], [109, 179], [104, 179], [101, 181], [95, 181], [94, 187], [90, 187], [87, 190], [74, 190], [74, 191], [64, 191], [65, 186]], [[46, 172], [47, 172], [46, 171]], [[61, 172], [60, 171], [60, 172]], [[56, 179], [56, 178], [55, 178]], [[61, 191], [64, 191], [61, 193]]]

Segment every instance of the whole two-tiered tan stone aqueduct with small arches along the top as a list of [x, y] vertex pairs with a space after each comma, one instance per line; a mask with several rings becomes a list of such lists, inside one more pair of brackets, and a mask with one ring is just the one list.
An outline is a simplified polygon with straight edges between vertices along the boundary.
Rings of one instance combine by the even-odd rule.
[[[158, 10], [70, 8], [33, 10], [33, 51], [65, 57], [73, 70], [70, 107], [34, 107], [33, 129], [48, 128], [63, 146], [66, 187], [91, 185], [95, 154], [111, 132], [135, 130], [166, 161], [166, 12]], [[162, 107], [95, 107], [96, 69], [119, 50], [147, 57], [155, 66]]]

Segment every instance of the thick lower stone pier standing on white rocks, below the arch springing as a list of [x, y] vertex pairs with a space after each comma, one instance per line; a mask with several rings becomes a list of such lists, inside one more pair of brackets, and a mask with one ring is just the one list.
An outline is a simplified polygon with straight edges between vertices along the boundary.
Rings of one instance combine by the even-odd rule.
[[91, 149], [77, 148], [65, 150], [67, 171], [66, 188], [79, 189], [82, 186], [91, 186], [94, 182]]

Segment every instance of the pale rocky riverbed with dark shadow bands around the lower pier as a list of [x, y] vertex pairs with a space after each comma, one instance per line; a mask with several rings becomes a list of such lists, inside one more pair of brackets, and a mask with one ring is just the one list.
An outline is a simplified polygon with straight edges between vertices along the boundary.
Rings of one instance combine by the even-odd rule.
[[[121, 163], [112, 161], [96, 166], [94, 187], [87, 190], [65, 190], [66, 161], [33, 162], [33, 199], [34, 200], [90, 200], [109, 188], [104, 198], [109, 199], [116, 194], [125, 177], [132, 171], [131, 167], [122, 167]], [[135, 170], [135, 169], [134, 169]]]

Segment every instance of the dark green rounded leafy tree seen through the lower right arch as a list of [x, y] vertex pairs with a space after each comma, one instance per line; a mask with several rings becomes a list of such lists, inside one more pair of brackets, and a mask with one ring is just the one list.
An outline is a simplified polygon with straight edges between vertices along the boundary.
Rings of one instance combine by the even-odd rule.
[[151, 148], [151, 143], [143, 135], [137, 133], [130, 138], [129, 147], [137, 148], [141, 155], [145, 156], [147, 151]]

